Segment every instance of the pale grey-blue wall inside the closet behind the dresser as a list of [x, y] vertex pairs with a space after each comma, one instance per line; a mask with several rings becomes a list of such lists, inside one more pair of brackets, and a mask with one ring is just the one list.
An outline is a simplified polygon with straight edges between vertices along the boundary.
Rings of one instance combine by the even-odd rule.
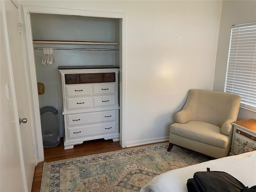
[[[119, 20], [66, 16], [56, 14], [31, 14], [33, 40], [119, 42]], [[34, 44], [35, 48], [102, 48], [99, 45]], [[108, 45], [104, 48], [118, 49]], [[37, 81], [45, 85], [39, 95], [40, 108], [53, 106], [59, 111], [60, 136], [63, 137], [62, 86], [58, 66], [114, 65], [119, 66], [119, 51], [53, 50], [55, 62], [42, 65], [42, 49], [34, 49]]]

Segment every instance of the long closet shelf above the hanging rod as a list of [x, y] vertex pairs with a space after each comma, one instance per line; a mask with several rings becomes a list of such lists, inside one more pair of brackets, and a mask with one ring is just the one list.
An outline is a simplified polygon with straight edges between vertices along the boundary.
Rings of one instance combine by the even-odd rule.
[[33, 40], [35, 44], [73, 44], [73, 45], [119, 45], [116, 42], [88, 42], [88, 41], [53, 41], [53, 40]]

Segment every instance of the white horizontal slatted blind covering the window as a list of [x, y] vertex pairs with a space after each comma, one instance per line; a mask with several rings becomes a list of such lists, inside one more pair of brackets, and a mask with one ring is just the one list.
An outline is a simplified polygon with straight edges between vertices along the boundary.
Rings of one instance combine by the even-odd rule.
[[256, 111], [256, 22], [232, 26], [225, 92], [240, 95], [240, 106]]

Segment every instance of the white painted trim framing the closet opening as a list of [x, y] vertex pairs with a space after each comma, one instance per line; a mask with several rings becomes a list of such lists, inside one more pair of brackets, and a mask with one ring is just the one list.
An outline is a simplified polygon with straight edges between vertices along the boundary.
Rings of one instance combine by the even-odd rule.
[[26, 65], [27, 75], [30, 77], [30, 89], [28, 94], [32, 99], [29, 100], [31, 109], [31, 119], [32, 129], [35, 130], [34, 139], [37, 140], [37, 146], [35, 147], [38, 153], [38, 162], [44, 160], [44, 146], [42, 142], [41, 133], [41, 122], [40, 122], [40, 112], [39, 100], [38, 100], [38, 90], [37, 90], [37, 80], [36, 80], [36, 67], [34, 62], [34, 50], [33, 50], [33, 39], [32, 39], [32, 29], [30, 21], [30, 13], [42, 13], [42, 14], [63, 14], [63, 15], [78, 15], [78, 16], [93, 16], [93, 17], [104, 17], [104, 18], [119, 18], [122, 19], [122, 42], [120, 42], [120, 52], [122, 53], [122, 61], [120, 62], [120, 145], [124, 148], [126, 147], [126, 130], [125, 130], [125, 99], [126, 99], [126, 14], [125, 13], [115, 13], [115, 12], [98, 12], [89, 10], [71, 10], [71, 9], [60, 9], [60, 8], [48, 8], [48, 7], [38, 7], [38, 6], [23, 6], [24, 12], [24, 25], [26, 30], [26, 43], [28, 51], [28, 64]]

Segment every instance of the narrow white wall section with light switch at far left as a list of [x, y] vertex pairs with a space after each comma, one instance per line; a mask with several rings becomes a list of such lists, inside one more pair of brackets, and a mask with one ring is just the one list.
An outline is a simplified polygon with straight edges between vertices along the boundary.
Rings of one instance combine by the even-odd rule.
[[0, 191], [26, 191], [26, 176], [14, 93], [3, 1], [0, 2]]

